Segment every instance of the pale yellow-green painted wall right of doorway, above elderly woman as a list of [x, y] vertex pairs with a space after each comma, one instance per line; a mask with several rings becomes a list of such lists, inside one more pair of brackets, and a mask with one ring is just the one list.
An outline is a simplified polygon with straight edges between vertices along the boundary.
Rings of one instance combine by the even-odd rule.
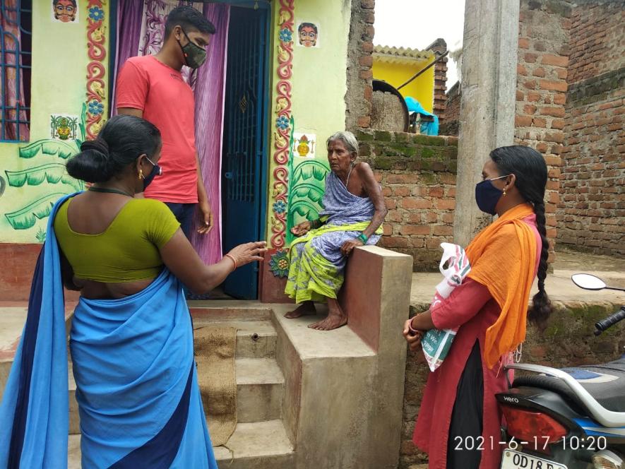
[[[316, 152], [314, 160], [326, 168], [316, 167], [327, 171], [326, 139], [336, 131], [345, 130], [345, 93], [347, 92], [347, 42], [350, 32], [350, 2], [337, 0], [296, 0], [294, 2], [293, 25], [293, 59], [291, 85], [292, 117], [294, 132], [314, 134], [316, 136]], [[279, 3], [273, 2], [273, 32], [271, 61], [272, 80], [270, 95], [270, 144], [268, 146], [269, 168], [269, 197], [268, 197], [268, 226], [267, 239], [273, 235], [272, 226], [275, 225], [275, 198], [273, 196], [273, 170], [275, 162], [275, 129], [276, 129], [276, 85], [280, 81], [276, 72], [280, 55], [280, 14]], [[299, 47], [297, 45], [297, 26], [300, 21], [314, 23], [319, 28], [319, 47]], [[292, 129], [291, 129], [292, 130]], [[306, 164], [312, 171], [312, 158], [299, 158], [294, 151], [290, 175], [297, 172], [297, 167]], [[323, 181], [310, 179], [306, 184], [313, 184], [323, 189]], [[290, 194], [293, 196], [293, 194]], [[292, 198], [290, 197], [290, 201]], [[280, 210], [280, 206], [278, 206]], [[288, 213], [288, 208], [287, 208]], [[301, 222], [302, 215], [294, 215], [294, 222]]]

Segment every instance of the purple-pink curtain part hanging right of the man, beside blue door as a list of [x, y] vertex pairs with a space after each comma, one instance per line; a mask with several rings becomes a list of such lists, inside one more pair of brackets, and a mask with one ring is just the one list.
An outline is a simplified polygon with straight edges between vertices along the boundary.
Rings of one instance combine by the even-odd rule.
[[230, 6], [205, 4], [204, 16], [217, 32], [210, 40], [206, 65], [198, 69], [196, 77], [196, 146], [215, 227], [204, 236], [194, 229], [191, 242], [203, 261], [215, 263], [222, 257], [221, 155]]

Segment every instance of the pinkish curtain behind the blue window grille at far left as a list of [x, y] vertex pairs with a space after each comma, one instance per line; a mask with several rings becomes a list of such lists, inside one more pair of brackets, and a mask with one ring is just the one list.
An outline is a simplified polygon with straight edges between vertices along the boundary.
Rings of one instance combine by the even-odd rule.
[[[2, 116], [4, 123], [0, 137], [3, 140], [28, 141], [30, 131], [26, 121], [28, 114], [25, 109], [24, 75], [16, 64], [21, 64], [20, 57], [20, 28], [19, 28], [18, 1], [5, 0], [0, 11], [0, 37], [4, 40], [4, 57], [2, 62], [1, 80], [4, 81], [4, 99], [2, 104], [8, 107]], [[22, 109], [20, 109], [22, 108]], [[19, 126], [19, 128], [18, 128]], [[19, 129], [19, 132], [18, 132]]]

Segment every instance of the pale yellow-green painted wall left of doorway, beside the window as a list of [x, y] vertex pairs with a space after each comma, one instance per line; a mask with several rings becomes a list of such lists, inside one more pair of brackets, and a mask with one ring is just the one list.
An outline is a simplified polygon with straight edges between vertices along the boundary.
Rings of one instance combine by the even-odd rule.
[[[44, 216], [50, 201], [58, 196], [53, 194], [70, 194], [81, 186], [75, 180], [64, 177], [57, 182], [49, 182], [42, 166], [59, 165], [66, 162], [57, 154], [37, 152], [32, 158], [20, 158], [20, 148], [34, 143], [45, 143], [48, 150], [62, 148], [64, 152], [78, 150], [76, 143], [67, 146], [59, 145], [59, 141], [50, 140], [50, 115], [71, 114], [80, 117], [83, 103], [86, 100], [87, 25], [88, 8], [86, 0], [79, 0], [81, 11], [78, 23], [61, 23], [52, 18], [50, 0], [33, 0], [32, 2], [32, 95], [30, 141], [25, 143], [0, 142], [0, 177], [6, 184], [4, 193], [0, 195], [0, 242], [40, 242], [46, 230], [47, 216]], [[102, 7], [105, 12], [105, 25], [108, 25], [108, 2]], [[106, 26], [108, 41], [108, 28]], [[105, 67], [107, 68], [107, 58]], [[107, 76], [105, 76], [107, 81]], [[104, 115], [107, 115], [105, 100]], [[80, 132], [79, 132], [80, 136]], [[49, 153], [49, 152], [48, 152]], [[68, 156], [66, 153], [62, 154]], [[62, 169], [62, 168], [61, 168]], [[8, 184], [6, 172], [25, 172], [28, 182], [22, 186]], [[59, 171], [55, 167], [49, 172]], [[4, 185], [4, 184], [3, 184]], [[16, 229], [8, 222], [7, 214], [22, 213], [18, 219], [22, 227]], [[41, 216], [41, 218], [39, 218]], [[12, 218], [16, 220], [16, 218]], [[30, 222], [34, 222], [32, 226]]]

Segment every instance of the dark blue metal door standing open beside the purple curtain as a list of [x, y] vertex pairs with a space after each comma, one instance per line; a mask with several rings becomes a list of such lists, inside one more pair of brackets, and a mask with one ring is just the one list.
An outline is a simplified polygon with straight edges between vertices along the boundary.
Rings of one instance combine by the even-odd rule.
[[[230, 10], [222, 174], [224, 253], [261, 239], [261, 181], [266, 88], [264, 8]], [[255, 299], [258, 264], [237, 269], [226, 279], [227, 295]]]

